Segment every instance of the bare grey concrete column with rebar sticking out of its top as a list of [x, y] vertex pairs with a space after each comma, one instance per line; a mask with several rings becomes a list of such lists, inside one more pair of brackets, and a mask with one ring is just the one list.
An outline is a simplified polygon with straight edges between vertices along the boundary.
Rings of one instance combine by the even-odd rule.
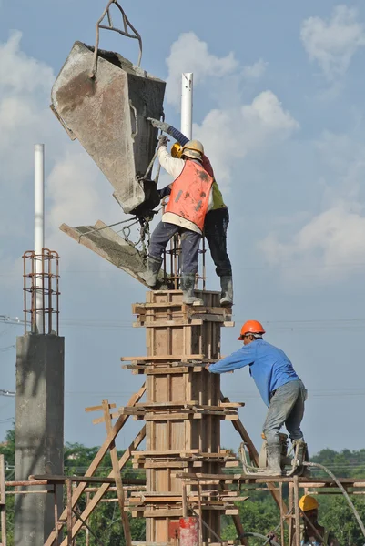
[[[56, 335], [16, 339], [15, 480], [64, 473], [64, 347]], [[61, 513], [62, 491], [58, 501]], [[54, 526], [53, 494], [15, 495], [15, 546], [44, 544]]]

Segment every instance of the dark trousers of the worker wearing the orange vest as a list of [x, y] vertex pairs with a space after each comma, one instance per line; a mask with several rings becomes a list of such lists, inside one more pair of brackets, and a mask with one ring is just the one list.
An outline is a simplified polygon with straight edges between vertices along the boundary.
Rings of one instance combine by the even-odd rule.
[[201, 235], [195, 231], [168, 222], [159, 222], [151, 235], [148, 254], [152, 258], [162, 258], [162, 252], [168, 241], [176, 233], [181, 236], [181, 273], [195, 275], [198, 272], [198, 251], [201, 239]]

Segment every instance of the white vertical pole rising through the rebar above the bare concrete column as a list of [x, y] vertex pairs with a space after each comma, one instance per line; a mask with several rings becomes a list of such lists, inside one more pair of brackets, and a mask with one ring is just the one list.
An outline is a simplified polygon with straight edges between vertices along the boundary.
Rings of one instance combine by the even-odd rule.
[[[35, 144], [35, 255], [40, 256], [43, 248], [45, 248], [45, 145]], [[35, 325], [38, 334], [44, 333], [41, 273], [42, 260], [36, 259]]]

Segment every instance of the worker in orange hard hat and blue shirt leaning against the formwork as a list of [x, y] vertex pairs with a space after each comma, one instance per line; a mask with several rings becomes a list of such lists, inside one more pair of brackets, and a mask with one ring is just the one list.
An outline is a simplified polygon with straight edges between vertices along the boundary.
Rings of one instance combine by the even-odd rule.
[[225, 373], [249, 366], [261, 398], [268, 406], [263, 432], [268, 442], [267, 476], [281, 475], [279, 430], [285, 424], [293, 446], [304, 445], [300, 423], [307, 391], [287, 355], [262, 339], [265, 330], [257, 320], [248, 320], [238, 339], [243, 347], [226, 359], [207, 366], [211, 373]]

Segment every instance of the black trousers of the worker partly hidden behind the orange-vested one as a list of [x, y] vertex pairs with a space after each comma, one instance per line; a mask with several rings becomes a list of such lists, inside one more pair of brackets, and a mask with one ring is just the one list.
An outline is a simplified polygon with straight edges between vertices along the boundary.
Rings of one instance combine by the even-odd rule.
[[204, 222], [204, 235], [208, 240], [211, 257], [218, 277], [231, 277], [232, 267], [227, 253], [228, 208], [208, 212]]

